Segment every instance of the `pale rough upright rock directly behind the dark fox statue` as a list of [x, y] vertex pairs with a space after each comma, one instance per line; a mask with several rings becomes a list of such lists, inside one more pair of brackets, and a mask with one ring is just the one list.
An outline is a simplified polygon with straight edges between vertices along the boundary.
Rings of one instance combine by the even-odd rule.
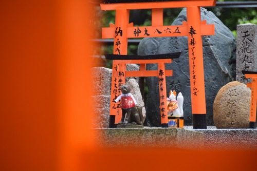
[[131, 88], [131, 93], [133, 94], [137, 102], [136, 106], [142, 108], [143, 121], [144, 121], [146, 118], [146, 110], [144, 107], [142, 95], [140, 93], [139, 85], [135, 79], [130, 79], [126, 84]]

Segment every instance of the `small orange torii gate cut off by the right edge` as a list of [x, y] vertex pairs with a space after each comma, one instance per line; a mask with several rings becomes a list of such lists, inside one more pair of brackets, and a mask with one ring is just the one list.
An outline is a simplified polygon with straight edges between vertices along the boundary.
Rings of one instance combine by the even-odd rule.
[[245, 78], [252, 79], [251, 83], [247, 83], [247, 87], [251, 88], [251, 102], [250, 102], [250, 119], [249, 128], [255, 128], [256, 121], [256, 104], [257, 104], [257, 72], [242, 71]]

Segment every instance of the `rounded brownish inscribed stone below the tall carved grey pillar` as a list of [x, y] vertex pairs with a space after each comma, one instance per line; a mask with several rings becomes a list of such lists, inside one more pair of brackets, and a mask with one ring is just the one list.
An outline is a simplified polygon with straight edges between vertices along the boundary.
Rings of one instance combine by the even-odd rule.
[[251, 90], [233, 81], [223, 86], [213, 104], [213, 121], [217, 128], [249, 128]]

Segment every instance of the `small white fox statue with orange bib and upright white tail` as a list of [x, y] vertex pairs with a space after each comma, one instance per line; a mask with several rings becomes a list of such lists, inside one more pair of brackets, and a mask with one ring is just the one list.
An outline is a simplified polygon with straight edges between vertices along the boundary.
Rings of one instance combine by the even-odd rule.
[[183, 101], [182, 93], [179, 92], [177, 96], [175, 90], [170, 91], [170, 97], [167, 98], [168, 117], [183, 117]]

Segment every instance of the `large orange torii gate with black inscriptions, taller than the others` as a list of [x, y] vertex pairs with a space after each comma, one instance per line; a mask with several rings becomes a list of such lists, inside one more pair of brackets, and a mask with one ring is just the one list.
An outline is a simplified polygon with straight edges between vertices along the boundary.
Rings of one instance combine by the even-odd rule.
[[[193, 114], [193, 128], [206, 129], [206, 101], [204, 83], [204, 61], [202, 35], [213, 35], [214, 25], [207, 25], [201, 21], [200, 7], [215, 6], [216, 0], [106, 0], [102, 1], [102, 10], [116, 10], [115, 25], [110, 24], [109, 28], [102, 28], [103, 39], [114, 39], [114, 54], [127, 54], [127, 39], [139, 37], [164, 37], [164, 36], [188, 36], [189, 46], [189, 68], [191, 85], [191, 104]], [[163, 26], [163, 8], [187, 8], [187, 22], [179, 26]], [[152, 9], [152, 26], [134, 27], [129, 23], [130, 10]], [[171, 62], [171, 61], [170, 61]], [[118, 123], [121, 119], [121, 109], [114, 99], [119, 96], [119, 86], [125, 83], [125, 65], [113, 61], [112, 93], [110, 106], [110, 122]], [[145, 64], [140, 63], [141, 77], [144, 77]], [[165, 68], [162, 66], [165, 70]], [[145, 75], [147, 76], [147, 75]], [[158, 76], [158, 75], [157, 75]], [[164, 79], [165, 77], [162, 76]], [[166, 90], [166, 84], [163, 84]], [[164, 93], [166, 99], [166, 93]], [[116, 116], [116, 117], [114, 117]], [[167, 106], [161, 112], [162, 127], [168, 127]], [[114, 119], [115, 118], [115, 119]]]

